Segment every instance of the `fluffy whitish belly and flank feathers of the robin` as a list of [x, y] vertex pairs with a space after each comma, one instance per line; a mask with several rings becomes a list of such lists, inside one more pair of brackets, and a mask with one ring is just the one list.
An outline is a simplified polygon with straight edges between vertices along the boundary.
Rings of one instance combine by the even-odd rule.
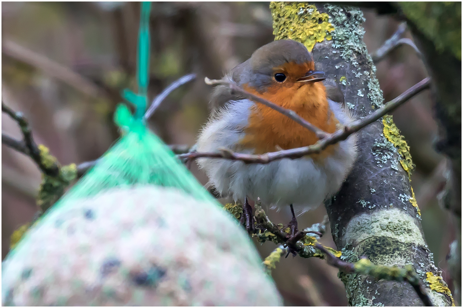
[[[350, 120], [338, 103], [330, 100], [329, 103], [339, 122]], [[233, 101], [219, 111], [201, 130], [197, 150], [237, 150], [253, 104], [247, 99]], [[251, 150], [239, 152], [252, 153]], [[334, 154], [319, 163], [310, 157], [275, 160], [268, 164], [202, 158], [198, 163], [224, 196], [241, 201], [246, 196], [252, 200], [259, 197], [264, 204], [277, 208], [293, 204], [294, 210], [301, 214], [319, 206], [339, 190], [356, 156], [356, 136], [350, 136], [339, 142]]]

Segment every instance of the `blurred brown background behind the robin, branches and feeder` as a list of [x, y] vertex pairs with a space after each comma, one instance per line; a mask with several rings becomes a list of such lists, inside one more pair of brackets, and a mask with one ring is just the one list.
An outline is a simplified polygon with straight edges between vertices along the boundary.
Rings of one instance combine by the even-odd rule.
[[[2, 99], [29, 119], [36, 142], [50, 148], [61, 164], [94, 160], [118, 137], [112, 122], [119, 92], [134, 86], [140, 5], [136, 2], [3, 2]], [[399, 22], [364, 11], [365, 43], [372, 53]], [[150, 98], [188, 73], [198, 78], [175, 90], [150, 119], [168, 144], [193, 145], [205, 123], [211, 88], [204, 76], [220, 78], [273, 40], [268, 2], [153, 2], [151, 13]], [[405, 37], [410, 37], [409, 32]], [[419, 57], [403, 46], [377, 64], [386, 101], [426, 76]], [[444, 184], [445, 160], [433, 141], [437, 125], [425, 91], [394, 112], [394, 121], [411, 147], [417, 168], [412, 185], [436, 266], [446, 272], [445, 256], [454, 239], [449, 215], [436, 195]], [[2, 114], [2, 132], [20, 138], [17, 125]], [[192, 167], [205, 184], [206, 176]], [[32, 219], [40, 172], [32, 160], [2, 145], [2, 259], [13, 230]], [[269, 211], [276, 223], [290, 213]], [[299, 218], [301, 227], [321, 222], [325, 209]], [[328, 232], [329, 233], [329, 232]], [[330, 234], [322, 238], [334, 247]], [[263, 257], [272, 243], [257, 245]], [[346, 305], [337, 270], [319, 259], [283, 259], [273, 277], [287, 305]], [[451, 286], [450, 286], [451, 287]]]

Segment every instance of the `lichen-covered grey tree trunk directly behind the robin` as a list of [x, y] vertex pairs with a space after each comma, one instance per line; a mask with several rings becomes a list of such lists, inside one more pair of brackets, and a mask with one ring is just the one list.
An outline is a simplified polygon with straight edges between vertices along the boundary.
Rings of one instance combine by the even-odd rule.
[[[304, 23], [313, 25], [314, 18], [318, 19], [319, 24], [323, 24], [322, 17], [319, 13], [312, 13], [313, 6], [308, 4], [305, 4], [307, 9], [300, 8], [299, 4], [286, 5], [292, 6], [293, 11], [295, 8], [296, 13], [290, 13], [281, 3], [271, 5], [275, 22], [274, 34], [281, 36], [281, 28], [286, 26], [291, 30], [286, 32], [289, 33], [287, 37], [310, 46], [310, 43], [304, 42], [304, 35], [291, 35], [300, 30], [292, 29], [297, 23], [284, 23], [282, 19], [299, 18], [297, 21], [300, 27], [304, 27]], [[326, 77], [342, 84], [346, 106], [358, 117], [363, 117], [381, 106], [383, 100], [375, 77], [375, 66], [363, 43], [363, 13], [357, 8], [340, 8], [329, 4], [317, 4], [317, 9], [328, 13], [334, 31], [330, 33], [332, 40], [325, 39], [316, 43], [312, 50], [316, 68], [323, 70]], [[283, 11], [288, 12], [289, 17], [283, 18]], [[308, 16], [312, 16], [312, 19], [307, 19]], [[311, 31], [307, 31], [307, 34], [310, 33]], [[333, 239], [338, 250], [342, 250], [344, 259], [351, 262], [364, 255], [378, 265], [413, 265], [428, 286], [426, 291], [434, 304], [450, 306], [450, 296], [431, 290], [426, 282], [426, 272], [435, 276], [441, 274], [426, 245], [418, 207], [413, 198], [408, 174], [413, 164], [408, 147], [397, 134], [392, 120], [383, 121], [378, 120], [360, 131], [360, 155], [354, 170], [337, 197], [326, 204]], [[386, 129], [383, 123], [386, 123]], [[389, 138], [392, 142], [385, 138], [384, 132], [395, 134], [393, 138]], [[340, 277], [346, 287], [350, 305], [423, 305], [407, 283], [374, 281], [370, 277], [356, 274], [341, 273]], [[445, 290], [445, 283], [439, 280], [440, 282], [442, 283], [439, 286]]]

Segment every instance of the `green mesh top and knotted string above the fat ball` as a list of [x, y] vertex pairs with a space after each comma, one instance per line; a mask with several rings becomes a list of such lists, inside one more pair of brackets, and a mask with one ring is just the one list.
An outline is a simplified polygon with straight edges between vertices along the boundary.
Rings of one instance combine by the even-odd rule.
[[143, 2], [138, 34], [137, 83], [138, 93], [128, 89], [123, 97], [135, 107], [119, 104], [114, 122], [122, 137], [54, 206], [56, 209], [67, 200], [91, 197], [119, 186], [158, 185], [174, 187], [199, 199], [213, 201], [213, 197], [196, 181], [174, 153], [144, 123], [147, 106], [148, 73], [150, 62], [150, 2]]

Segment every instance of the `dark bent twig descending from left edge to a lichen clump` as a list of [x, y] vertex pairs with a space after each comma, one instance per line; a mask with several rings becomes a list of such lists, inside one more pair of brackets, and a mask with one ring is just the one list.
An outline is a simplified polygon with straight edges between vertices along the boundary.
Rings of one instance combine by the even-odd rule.
[[[35, 161], [35, 163], [38, 165], [40, 170], [44, 172], [46, 175], [49, 175], [51, 177], [56, 177], [59, 173], [59, 168], [58, 166], [54, 163], [52, 166], [47, 167], [44, 165], [42, 162], [42, 158], [40, 157], [40, 151], [37, 147], [37, 144], [34, 142], [34, 139], [32, 138], [32, 132], [29, 127], [29, 123], [27, 123], [27, 120], [25, 117], [23, 117], [23, 114], [21, 112], [14, 112], [11, 110], [9, 107], [7, 107], [3, 101], [1, 102], [1, 111], [5, 112], [7, 115], [13, 118], [16, 123], [18, 123], [19, 128], [21, 129], [21, 132], [23, 133], [24, 136], [24, 145], [28, 151], [27, 155], [29, 155], [32, 160]], [[12, 141], [11, 139], [8, 141]], [[2, 142], [3, 142], [3, 136], [2, 136]], [[24, 152], [23, 152], [24, 153]], [[26, 153], [25, 153], [26, 154]]]

